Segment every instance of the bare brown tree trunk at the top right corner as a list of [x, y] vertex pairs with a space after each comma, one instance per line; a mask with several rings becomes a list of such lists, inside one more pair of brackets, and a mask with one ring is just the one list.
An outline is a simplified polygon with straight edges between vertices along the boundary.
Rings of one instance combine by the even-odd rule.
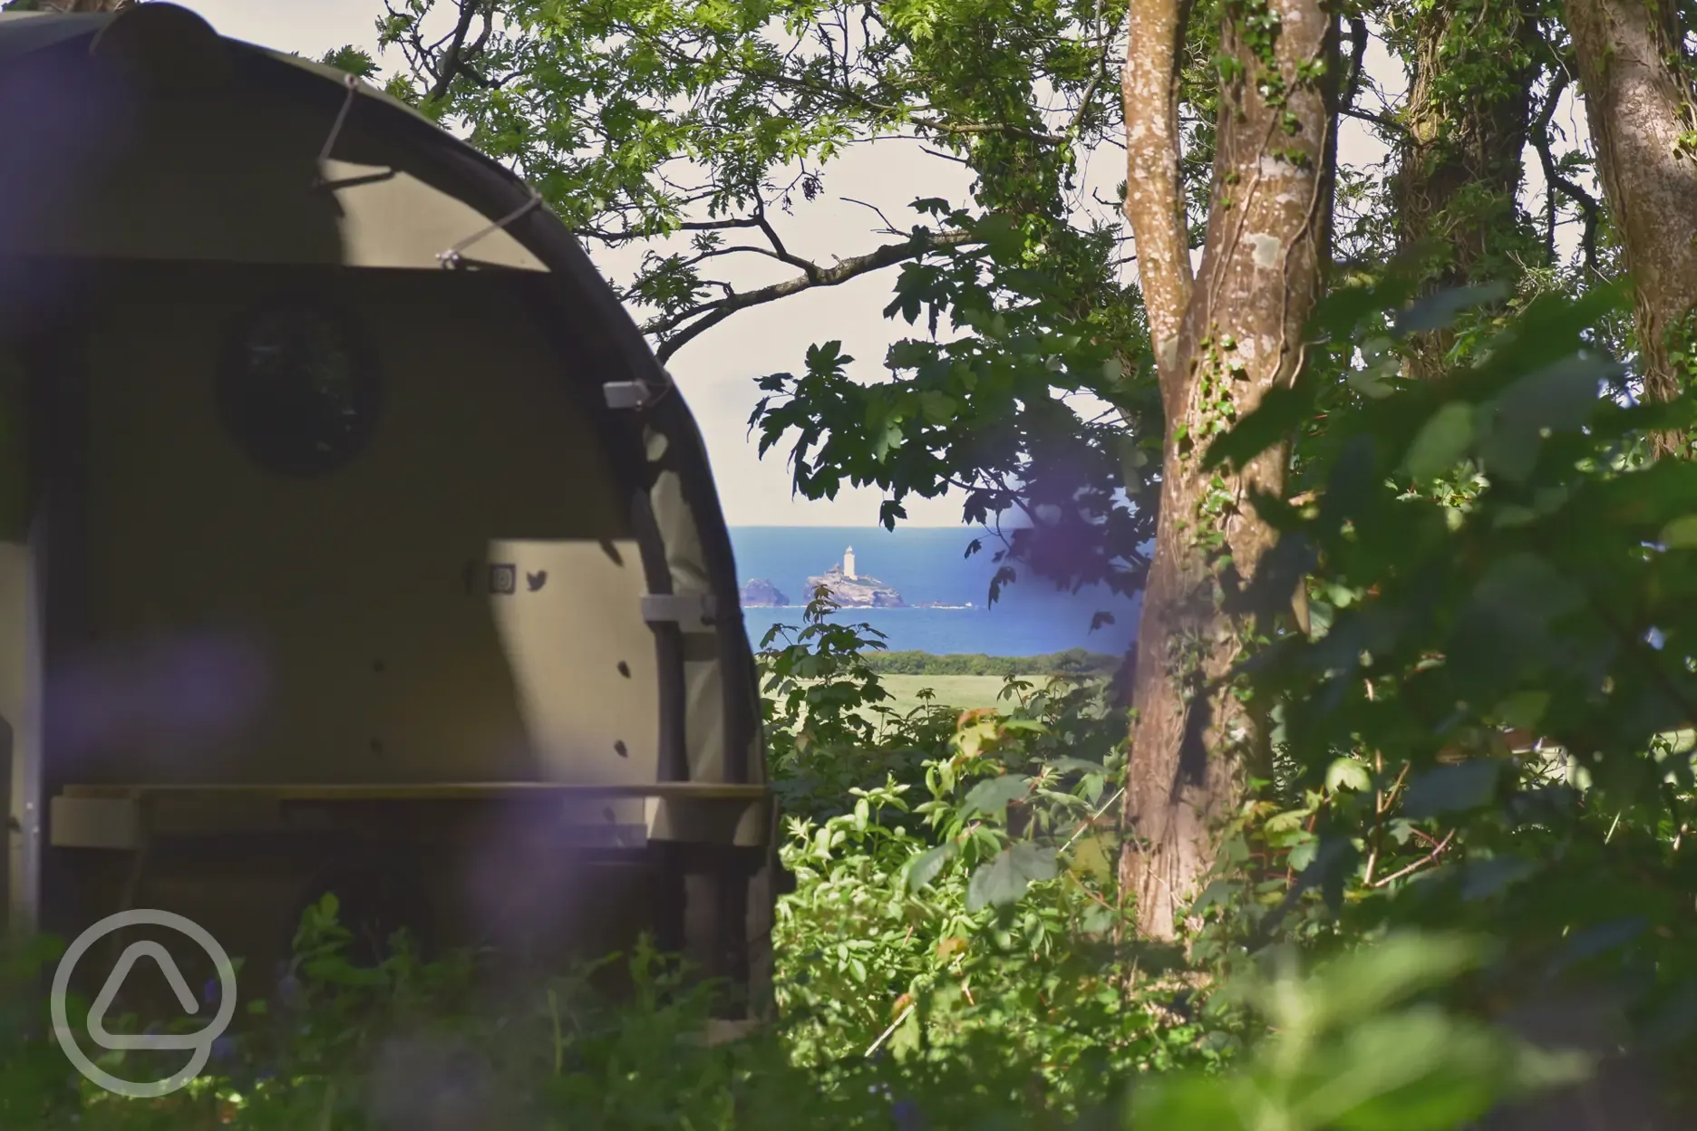
[[[1697, 304], [1697, 98], [1678, 8], [1646, 0], [1568, 0], [1585, 115], [1604, 197], [1633, 280], [1644, 395], [1668, 400], [1689, 380]], [[1683, 434], [1655, 437], [1685, 454]]]

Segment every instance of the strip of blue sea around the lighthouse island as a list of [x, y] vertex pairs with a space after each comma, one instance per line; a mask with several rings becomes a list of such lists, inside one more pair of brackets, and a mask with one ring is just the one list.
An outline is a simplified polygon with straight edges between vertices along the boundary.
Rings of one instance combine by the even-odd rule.
[[[738, 585], [764, 578], [792, 602], [789, 607], [743, 610], [755, 648], [774, 626], [803, 624], [808, 578], [840, 563], [848, 548], [854, 548], [859, 577], [893, 587], [908, 605], [955, 605], [840, 609], [833, 614], [840, 622], [867, 624], [884, 632], [889, 651], [1042, 656], [1084, 648], [1122, 655], [1137, 638], [1137, 600], [1100, 587], [1071, 593], [1022, 573], [989, 605], [1000, 543], [974, 527], [733, 526], [730, 534]], [[974, 538], [983, 549], [967, 556]], [[1098, 612], [1108, 614], [1112, 622], [1093, 631], [1091, 621]]]

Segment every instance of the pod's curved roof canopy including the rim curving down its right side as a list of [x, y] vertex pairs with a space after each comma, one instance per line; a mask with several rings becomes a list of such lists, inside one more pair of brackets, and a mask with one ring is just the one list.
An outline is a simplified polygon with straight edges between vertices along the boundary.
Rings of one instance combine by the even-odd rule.
[[[146, 97], [134, 97], [137, 86]], [[535, 280], [546, 298], [533, 315], [572, 358], [562, 380], [587, 385], [585, 404], [604, 414], [604, 443], [631, 483], [648, 592], [711, 602], [704, 632], [664, 600], [653, 617], [670, 734], [662, 748], [675, 748], [672, 766], [687, 777], [764, 780], [753, 660], [701, 436], [533, 188], [370, 85], [224, 39], [170, 3], [0, 15], [0, 95], [31, 107], [0, 122], [0, 258]]]

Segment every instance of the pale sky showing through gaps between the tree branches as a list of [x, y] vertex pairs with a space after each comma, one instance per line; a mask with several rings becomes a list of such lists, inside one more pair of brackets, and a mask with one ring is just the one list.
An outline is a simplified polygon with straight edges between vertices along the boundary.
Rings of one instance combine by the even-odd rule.
[[[375, 20], [380, 0], [176, 0], [199, 12], [219, 32], [278, 51], [321, 56], [333, 47], [353, 44], [377, 54]], [[397, 58], [378, 58], [385, 66]], [[1368, 54], [1368, 73], [1390, 97], [1398, 95], [1402, 76], [1375, 42]], [[1577, 107], [1561, 107], [1558, 120], [1577, 125]], [[1344, 120], [1339, 129], [1339, 158], [1346, 164], [1366, 166], [1385, 158], [1380, 146], [1358, 120]], [[1123, 180], [1123, 156], [1105, 148], [1086, 154], [1083, 202], [1096, 190], [1112, 200]], [[1527, 168], [1527, 193], [1543, 198], [1543, 178], [1536, 159]], [[871, 251], [888, 236], [877, 236], [876, 205], [896, 227], [913, 222], [908, 205], [918, 197], [966, 200], [967, 173], [955, 164], [927, 156], [915, 142], [881, 141], [852, 148], [825, 170], [825, 193], [813, 202], [798, 198], [792, 215], [774, 219], [791, 251], [815, 261]], [[860, 202], [860, 203], [852, 203]], [[1568, 232], [1571, 242], [1571, 232]], [[628, 278], [640, 263], [640, 249], [619, 253], [594, 251], [601, 270], [614, 278]], [[731, 256], [725, 271], [735, 287], [777, 281], [791, 270], [755, 256]], [[740, 268], [740, 270], [738, 270]], [[1129, 271], [1135, 266], [1129, 266]], [[696, 414], [725, 517], [730, 526], [877, 526], [881, 493], [876, 488], [845, 487], [835, 500], [811, 502], [794, 497], [786, 448], [774, 448], [765, 460], [757, 454], [757, 439], [748, 431], [748, 415], [760, 398], [755, 380], [767, 373], [799, 371], [808, 346], [838, 339], [857, 358], [850, 371], [859, 380], [877, 380], [886, 349], [915, 332], [901, 319], [884, 319], [894, 270], [876, 271], [840, 287], [815, 288], [764, 307], [752, 307], [701, 334], [667, 363], [672, 376]], [[913, 526], [957, 526], [961, 500], [911, 499], [906, 504]]]

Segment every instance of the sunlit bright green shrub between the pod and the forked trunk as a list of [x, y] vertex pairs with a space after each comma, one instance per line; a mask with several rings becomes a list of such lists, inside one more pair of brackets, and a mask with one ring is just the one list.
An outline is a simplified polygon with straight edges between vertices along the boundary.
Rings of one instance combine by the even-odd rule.
[[850, 812], [791, 817], [798, 890], [777, 943], [798, 1056], [838, 1061], [886, 1026], [896, 1058], [994, 1036], [1039, 1053], [1047, 1089], [1064, 1094], [1079, 1056], [1108, 1070], [1149, 1055], [1117, 1017], [1105, 950], [1118, 919], [1103, 829], [1118, 734], [1088, 690], [1028, 687], [1008, 712], [966, 712], [920, 749], [918, 783], [889, 777], [854, 788]]

